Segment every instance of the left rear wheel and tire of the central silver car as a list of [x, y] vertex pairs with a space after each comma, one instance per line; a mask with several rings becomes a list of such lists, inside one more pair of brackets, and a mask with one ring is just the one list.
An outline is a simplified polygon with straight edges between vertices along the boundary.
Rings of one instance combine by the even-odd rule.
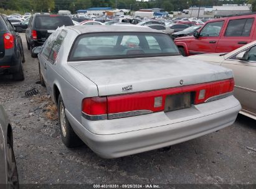
[[[69, 148], [82, 145], [83, 142], [77, 136], [77, 134], [75, 134], [72, 127], [70, 126], [69, 120], [66, 117], [65, 105], [61, 95], [59, 95], [59, 99], [58, 99], [58, 113], [59, 113], [59, 126], [60, 126], [60, 134], [62, 137], [62, 142], [65, 144], [65, 146]], [[65, 126], [65, 128], [63, 126]]]

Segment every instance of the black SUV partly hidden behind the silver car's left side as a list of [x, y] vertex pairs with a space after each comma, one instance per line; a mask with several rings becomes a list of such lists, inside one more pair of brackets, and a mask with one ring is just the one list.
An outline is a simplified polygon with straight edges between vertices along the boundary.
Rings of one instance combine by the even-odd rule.
[[31, 57], [37, 57], [32, 52], [32, 49], [43, 45], [49, 35], [63, 25], [73, 25], [72, 19], [69, 16], [56, 14], [37, 14], [31, 16], [26, 30], [27, 49], [31, 50]]

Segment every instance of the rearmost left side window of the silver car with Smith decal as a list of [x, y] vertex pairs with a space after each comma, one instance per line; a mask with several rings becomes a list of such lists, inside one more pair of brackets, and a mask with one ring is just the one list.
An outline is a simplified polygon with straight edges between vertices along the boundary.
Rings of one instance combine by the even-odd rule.
[[66, 35], [67, 35], [67, 31], [62, 30], [58, 35], [57, 39], [54, 41], [54, 45], [52, 45], [52, 50], [50, 51], [50, 55], [49, 55], [49, 60], [52, 63], [55, 62], [57, 55], [59, 53], [60, 47], [62, 45], [62, 42], [64, 41]]

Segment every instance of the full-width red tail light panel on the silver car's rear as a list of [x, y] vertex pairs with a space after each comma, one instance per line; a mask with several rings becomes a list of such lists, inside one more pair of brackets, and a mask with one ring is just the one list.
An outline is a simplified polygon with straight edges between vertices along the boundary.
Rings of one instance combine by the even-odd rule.
[[164, 111], [166, 96], [172, 94], [191, 93], [194, 96], [192, 103], [201, 104], [230, 96], [233, 90], [234, 79], [231, 78], [164, 90], [85, 98], [82, 101], [82, 113], [90, 120], [137, 116]]

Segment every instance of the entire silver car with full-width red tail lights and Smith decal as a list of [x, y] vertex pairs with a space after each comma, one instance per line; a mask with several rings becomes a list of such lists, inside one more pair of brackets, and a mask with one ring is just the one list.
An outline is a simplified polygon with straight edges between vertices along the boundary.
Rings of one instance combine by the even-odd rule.
[[62, 141], [103, 158], [159, 149], [230, 126], [232, 70], [179, 54], [148, 27], [75, 25], [34, 48], [59, 109]]

